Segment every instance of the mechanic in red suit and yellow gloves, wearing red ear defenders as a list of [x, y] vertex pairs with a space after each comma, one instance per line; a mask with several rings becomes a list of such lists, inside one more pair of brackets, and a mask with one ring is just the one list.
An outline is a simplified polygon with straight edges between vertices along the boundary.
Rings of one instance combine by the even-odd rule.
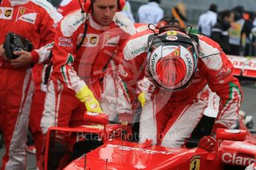
[[124, 4], [123, 0], [85, 1], [82, 10], [59, 22], [41, 121], [43, 134], [50, 126], [85, 125], [85, 110], [113, 114], [108, 109], [114, 110], [116, 104], [114, 75], [119, 59], [115, 52], [136, 33], [132, 22], [116, 13]]

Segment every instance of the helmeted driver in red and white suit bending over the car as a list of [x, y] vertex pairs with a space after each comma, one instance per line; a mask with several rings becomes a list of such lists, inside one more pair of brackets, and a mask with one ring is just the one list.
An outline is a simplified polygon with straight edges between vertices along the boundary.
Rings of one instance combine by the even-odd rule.
[[215, 130], [236, 125], [240, 84], [219, 44], [203, 35], [191, 38], [177, 26], [169, 29], [157, 37], [151, 30], [137, 33], [119, 53], [119, 119], [132, 123], [139, 100], [140, 143], [148, 139], [161, 146], [182, 147], [203, 116], [210, 92], [216, 92], [220, 108], [212, 134], [199, 144], [212, 151]]

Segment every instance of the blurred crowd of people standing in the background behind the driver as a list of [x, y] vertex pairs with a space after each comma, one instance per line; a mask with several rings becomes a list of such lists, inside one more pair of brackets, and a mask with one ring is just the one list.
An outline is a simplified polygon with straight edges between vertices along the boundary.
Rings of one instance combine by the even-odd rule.
[[[65, 5], [70, 0], [52, 1], [53, 5]], [[166, 4], [166, 3], [165, 3]], [[247, 10], [243, 5], [223, 7], [219, 4], [210, 4], [209, 9], [202, 11], [199, 7], [199, 16], [193, 17], [189, 13], [185, 2], [174, 1], [166, 10], [163, 0], [149, 0], [148, 3], [127, 0], [122, 10], [134, 23], [156, 24], [164, 16], [174, 16], [181, 27], [193, 26], [194, 33], [207, 35], [217, 41], [224, 52], [229, 55], [256, 55], [256, 13]], [[190, 4], [189, 4], [190, 5]], [[197, 5], [197, 4], [195, 4]], [[219, 10], [222, 9], [222, 10]], [[199, 11], [202, 11], [201, 13]], [[194, 12], [194, 10], [193, 10]], [[191, 17], [193, 17], [191, 19]], [[188, 19], [189, 18], [189, 19]]]

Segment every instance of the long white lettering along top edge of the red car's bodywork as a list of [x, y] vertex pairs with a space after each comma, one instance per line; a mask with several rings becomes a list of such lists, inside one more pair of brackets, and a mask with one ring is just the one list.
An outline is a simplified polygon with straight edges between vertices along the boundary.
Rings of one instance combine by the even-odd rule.
[[109, 147], [117, 148], [119, 150], [124, 150], [124, 151], [140, 151], [145, 154], [172, 154], [174, 152], [180, 152], [180, 150], [171, 150], [171, 151], [154, 151], [151, 149], [142, 149], [142, 148], [134, 148], [130, 146], [120, 146], [120, 145], [113, 145], [113, 144], [108, 144]]

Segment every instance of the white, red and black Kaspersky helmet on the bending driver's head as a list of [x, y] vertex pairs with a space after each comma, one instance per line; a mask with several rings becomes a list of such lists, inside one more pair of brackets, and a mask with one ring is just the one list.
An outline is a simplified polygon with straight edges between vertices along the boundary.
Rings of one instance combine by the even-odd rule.
[[179, 90], [188, 86], [194, 78], [198, 58], [197, 44], [182, 28], [171, 28], [176, 30], [164, 30], [163, 33], [160, 30], [150, 41], [148, 72], [161, 87]]

